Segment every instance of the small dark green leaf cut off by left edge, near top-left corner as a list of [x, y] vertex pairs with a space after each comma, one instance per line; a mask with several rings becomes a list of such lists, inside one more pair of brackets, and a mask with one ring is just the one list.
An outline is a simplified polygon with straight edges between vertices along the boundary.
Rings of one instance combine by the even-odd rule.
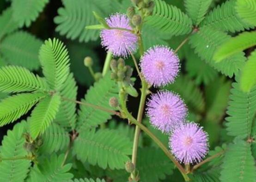
[[7, 8], [0, 16], [0, 40], [7, 34], [18, 29], [18, 23], [13, 20], [12, 8]]

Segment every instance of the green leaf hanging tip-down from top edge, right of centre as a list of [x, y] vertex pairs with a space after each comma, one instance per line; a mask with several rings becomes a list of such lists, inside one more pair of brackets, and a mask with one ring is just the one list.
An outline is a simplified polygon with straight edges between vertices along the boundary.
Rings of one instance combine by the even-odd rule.
[[184, 3], [186, 12], [192, 19], [193, 24], [199, 25], [204, 19], [212, 0], [185, 0]]

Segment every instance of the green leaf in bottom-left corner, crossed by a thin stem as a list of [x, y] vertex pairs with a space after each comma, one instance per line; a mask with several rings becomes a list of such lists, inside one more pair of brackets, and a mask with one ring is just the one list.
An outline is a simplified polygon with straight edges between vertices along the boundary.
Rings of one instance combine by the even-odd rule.
[[[23, 147], [25, 128], [26, 123], [22, 122], [16, 124], [12, 130], [8, 130], [0, 147], [1, 159], [22, 158], [28, 154]], [[24, 182], [29, 167], [30, 160], [28, 159], [0, 161], [0, 182]]]

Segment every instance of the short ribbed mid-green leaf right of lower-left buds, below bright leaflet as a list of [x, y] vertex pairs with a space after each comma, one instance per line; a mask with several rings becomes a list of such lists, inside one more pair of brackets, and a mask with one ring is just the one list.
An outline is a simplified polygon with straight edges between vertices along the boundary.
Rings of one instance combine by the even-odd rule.
[[43, 145], [40, 151], [43, 153], [58, 152], [69, 144], [69, 134], [56, 123], [52, 123], [42, 135]]

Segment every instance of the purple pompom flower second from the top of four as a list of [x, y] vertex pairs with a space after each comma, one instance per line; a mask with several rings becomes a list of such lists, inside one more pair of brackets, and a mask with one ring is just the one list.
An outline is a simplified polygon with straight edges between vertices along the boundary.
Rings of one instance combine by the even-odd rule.
[[174, 82], [179, 72], [179, 58], [169, 48], [156, 46], [147, 50], [140, 62], [146, 81], [155, 87]]

